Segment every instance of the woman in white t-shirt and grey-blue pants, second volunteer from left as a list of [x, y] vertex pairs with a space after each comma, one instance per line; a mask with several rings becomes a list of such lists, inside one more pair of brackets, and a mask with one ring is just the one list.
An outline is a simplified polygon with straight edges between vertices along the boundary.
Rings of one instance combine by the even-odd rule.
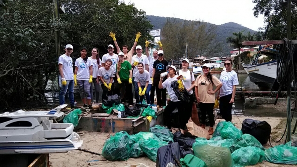
[[[74, 84], [79, 87], [80, 96], [84, 103], [84, 107], [91, 106], [91, 93], [90, 87], [93, 82], [93, 63], [88, 60], [87, 48], [82, 47], [81, 57], [75, 60], [75, 70], [74, 70]], [[88, 105], [87, 105], [87, 102]]]

